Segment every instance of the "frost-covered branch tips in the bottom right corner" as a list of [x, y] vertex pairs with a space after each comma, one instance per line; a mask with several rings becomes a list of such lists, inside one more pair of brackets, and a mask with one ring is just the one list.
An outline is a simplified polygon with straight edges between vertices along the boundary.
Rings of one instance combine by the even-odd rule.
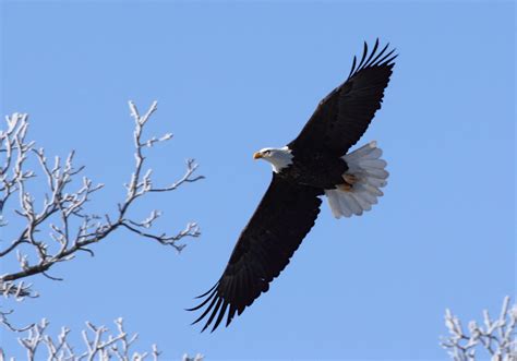
[[483, 311], [483, 318], [484, 326], [470, 321], [465, 333], [459, 318], [447, 309], [445, 326], [450, 336], [442, 339], [442, 347], [454, 361], [473, 361], [479, 349], [484, 349], [492, 361], [517, 361], [517, 304], [509, 309], [506, 297], [497, 318], [491, 318], [488, 310]]

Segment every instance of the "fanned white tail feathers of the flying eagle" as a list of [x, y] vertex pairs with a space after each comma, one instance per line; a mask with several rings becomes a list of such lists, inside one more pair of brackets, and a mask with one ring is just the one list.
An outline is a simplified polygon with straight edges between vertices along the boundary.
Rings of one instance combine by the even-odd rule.
[[342, 176], [352, 184], [351, 188], [325, 190], [334, 217], [360, 216], [377, 203], [377, 196], [383, 195], [381, 188], [386, 185], [389, 176], [385, 169], [386, 161], [381, 159], [382, 154], [376, 142], [370, 142], [342, 157], [348, 165]]

